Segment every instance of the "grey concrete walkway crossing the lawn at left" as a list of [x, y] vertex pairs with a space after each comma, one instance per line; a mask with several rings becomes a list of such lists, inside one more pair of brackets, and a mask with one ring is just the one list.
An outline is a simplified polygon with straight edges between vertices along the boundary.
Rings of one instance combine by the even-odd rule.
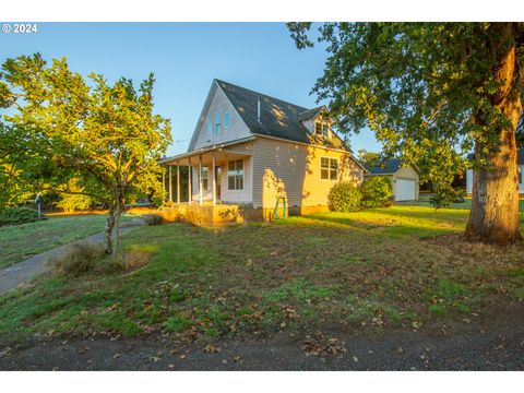
[[[130, 223], [127, 223], [126, 226], [120, 227], [120, 235], [127, 234], [142, 225], [144, 225], [143, 219], [139, 217], [133, 218]], [[104, 242], [104, 238], [105, 234], [99, 233], [76, 241], [102, 243]], [[52, 250], [33, 255], [22, 262], [0, 270], [0, 294], [15, 289], [20, 285], [29, 282], [36, 276], [52, 270], [53, 265], [49, 261], [66, 252], [68, 247], [69, 243], [57, 247]]]

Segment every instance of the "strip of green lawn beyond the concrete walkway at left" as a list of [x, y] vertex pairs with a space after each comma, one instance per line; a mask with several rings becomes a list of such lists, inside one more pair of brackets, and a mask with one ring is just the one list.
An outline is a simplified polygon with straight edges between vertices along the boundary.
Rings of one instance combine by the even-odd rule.
[[[123, 216], [122, 221], [130, 217]], [[0, 227], [0, 269], [55, 247], [104, 230], [106, 215], [51, 216], [48, 219]]]

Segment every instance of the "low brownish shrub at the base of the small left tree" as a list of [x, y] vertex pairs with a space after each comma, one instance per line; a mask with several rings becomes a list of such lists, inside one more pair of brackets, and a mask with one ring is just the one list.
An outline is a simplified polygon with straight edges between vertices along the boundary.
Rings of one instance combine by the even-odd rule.
[[80, 276], [95, 269], [96, 262], [104, 257], [104, 247], [88, 242], [75, 242], [55, 259], [58, 274]]

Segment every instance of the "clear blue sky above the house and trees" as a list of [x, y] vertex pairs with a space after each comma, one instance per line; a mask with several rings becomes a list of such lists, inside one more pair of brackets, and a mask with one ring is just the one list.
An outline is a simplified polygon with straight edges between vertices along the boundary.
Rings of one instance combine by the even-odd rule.
[[[327, 57], [321, 44], [298, 50], [284, 23], [38, 23], [37, 33], [0, 33], [0, 62], [34, 52], [136, 86], [153, 72], [155, 111], [171, 120], [167, 155], [187, 151], [213, 79], [312, 108]], [[354, 152], [380, 150], [370, 131], [349, 141]]]

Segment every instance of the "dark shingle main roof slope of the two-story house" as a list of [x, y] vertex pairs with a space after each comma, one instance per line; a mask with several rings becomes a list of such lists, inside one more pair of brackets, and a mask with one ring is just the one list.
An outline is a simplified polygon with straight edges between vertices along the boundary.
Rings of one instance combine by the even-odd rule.
[[[262, 93], [253, 92], [249, 88], [219, 80], [215, 81], [251, 132], [289, 141], [348, 150], [337, 135], [334, 134], [331, 139], [313, 135], [302, 124], [301, 120], [308, 119], [308, 116], [311, 116], [311, 118], [314, 117], [321, 107], [308, 109]], [[259, 98], [261, 102], [260, 122], [258, 120]]]

